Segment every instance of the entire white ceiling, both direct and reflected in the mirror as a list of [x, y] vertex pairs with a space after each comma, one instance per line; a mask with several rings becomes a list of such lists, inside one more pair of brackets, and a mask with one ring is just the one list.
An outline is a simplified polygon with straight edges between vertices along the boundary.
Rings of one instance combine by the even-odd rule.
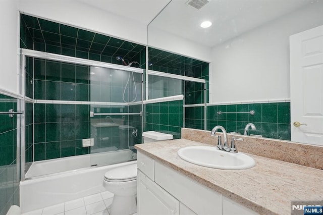
[[[188, 0], [76, 1], [145, 25], [158, 15], [149, 26], [212, 47], [323, 0], [209, 0], [200, 10], [185, 4]], [[205, 20], [213, 23], [210, 28], [199, 26]]]

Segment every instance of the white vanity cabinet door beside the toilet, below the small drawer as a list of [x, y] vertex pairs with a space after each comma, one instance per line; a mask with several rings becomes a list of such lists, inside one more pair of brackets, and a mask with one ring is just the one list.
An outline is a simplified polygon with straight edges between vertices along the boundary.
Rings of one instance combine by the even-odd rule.
[[179, 215], [180, 202], [138, 170], [138, 214]]

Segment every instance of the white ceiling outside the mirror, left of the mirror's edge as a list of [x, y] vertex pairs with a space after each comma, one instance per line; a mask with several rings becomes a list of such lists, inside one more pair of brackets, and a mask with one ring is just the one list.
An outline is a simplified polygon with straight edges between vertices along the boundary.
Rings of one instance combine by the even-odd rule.
[[77, 0], [88, 6], [126, 17], [145, 25], [171, 0]]

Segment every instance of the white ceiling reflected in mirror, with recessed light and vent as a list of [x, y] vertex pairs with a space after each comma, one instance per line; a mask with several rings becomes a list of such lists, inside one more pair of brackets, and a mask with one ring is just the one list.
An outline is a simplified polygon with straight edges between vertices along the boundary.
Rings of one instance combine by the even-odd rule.
[[[209, 1], [197, 10], [185, 4], [187, 0], [173, 0], [150, 26], [212, 47], [307, 4], [322, 0]], [[199, 26], [205, 20], [213, 23], [210, 28], [203, 29]]]

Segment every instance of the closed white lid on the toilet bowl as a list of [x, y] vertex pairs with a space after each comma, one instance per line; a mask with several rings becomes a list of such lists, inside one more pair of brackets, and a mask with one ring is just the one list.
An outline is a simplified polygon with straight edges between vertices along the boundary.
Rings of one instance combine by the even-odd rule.
[[109, 182], [123, 182], [137, 179], [137, 164], [126, 165], [107, 171], [104, 180]]

